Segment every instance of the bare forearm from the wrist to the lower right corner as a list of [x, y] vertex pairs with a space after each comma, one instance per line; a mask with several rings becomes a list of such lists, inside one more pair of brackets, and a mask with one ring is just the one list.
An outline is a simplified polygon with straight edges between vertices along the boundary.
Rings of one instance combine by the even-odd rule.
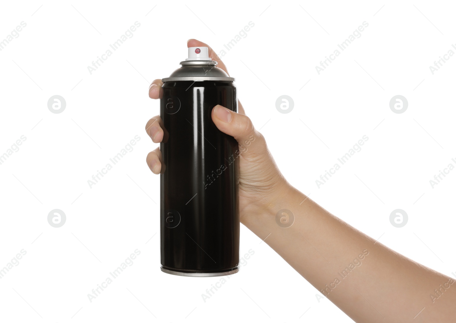
[[[450, 277], [383, 246], [285, 187], [259, 213], [245, 216], [243, 224], [267, 237], [264, 242], [353, 320], [456, 319], [456, 284]], [[279, 215], [285, 223], [276, 222], [284, 209], [294, 215], [289, 227], [287, 211]]]

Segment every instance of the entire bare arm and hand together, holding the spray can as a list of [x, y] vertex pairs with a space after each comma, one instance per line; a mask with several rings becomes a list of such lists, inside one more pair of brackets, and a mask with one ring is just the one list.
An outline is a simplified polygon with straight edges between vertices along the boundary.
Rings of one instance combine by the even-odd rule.
[[[209, 57], [228, 73], [207, 44], [190, 39], [187, 46], [208, 47]], [[150, 98], [161, 97], [162, 84], [160, 79], [152, 82]], [[355, 322], [456, 319], [455, 280], [375, 241], [291, 186], [240, 102], [238, 108], [239, 113], [235, 113], [217, 105], [212, 109], [212, 120], [239, 145], [254, 137], [249, 149], [239, 155], [239, 211], [244, 226], [265, 239], [291, 267]], [[162, 141], [162, 127], [160, 116], [147, 122], [146, 132], [154, 143]], [[154, 174], [160, 174], [160, 149], [151, 151], [146, 162]], [[293, 210], [295, 217], [293, 225], [287, 228], [276, 222], [277, 212], [283, 209]], [[347, 267], [354, 269], [342, 278], [338, 273]], [[336, 278], [339, 282], [335, 282]]]

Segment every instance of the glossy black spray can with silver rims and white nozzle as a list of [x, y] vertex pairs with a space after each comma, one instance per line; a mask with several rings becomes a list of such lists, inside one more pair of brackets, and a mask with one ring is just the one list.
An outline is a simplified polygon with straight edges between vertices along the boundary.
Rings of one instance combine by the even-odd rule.
[[188, 57], [162, 79], [161, 270], [229, 275], [239, 270], [239, 151], [211, 112], [217, 104], [238, 112], [236, 87], [207, 47], [190, 47]]

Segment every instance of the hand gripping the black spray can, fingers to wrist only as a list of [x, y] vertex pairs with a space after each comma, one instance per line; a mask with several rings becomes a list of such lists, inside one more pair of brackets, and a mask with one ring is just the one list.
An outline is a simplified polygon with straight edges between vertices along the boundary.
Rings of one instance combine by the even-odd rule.
[[[207, 44], [190, 39], [187, 46], [208, 47], [209, 57], [217, 61], [217, 67], [228, 73], [225, 64]], [[161, 98], [162, 84], [160, 79], [152, 82], [149, 87], [150, 98]], [[212, 120], [220, 131], [233, 136], [239, 144], [239, 211], [241, 222], [244, 223], [246, 216], [265, 212], [275, 205], [275, 201], [284, 194], [284, 189], [289, 185], [269, 153], [263, 135], [255, 130], [240, 102], [238, 110], [239, 113], [235, 113], [217, 105], [212, 109]], [[160, 116], [151, 118], [145, 130], [154, 143], [160, 143], [168, 135]], [[146, 162], [154, 174], [164, 171], [158, 147], [147, 155]]]

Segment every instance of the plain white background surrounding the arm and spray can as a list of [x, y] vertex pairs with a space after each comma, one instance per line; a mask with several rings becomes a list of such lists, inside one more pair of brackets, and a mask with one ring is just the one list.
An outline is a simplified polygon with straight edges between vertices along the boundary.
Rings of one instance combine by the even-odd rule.
[[[0, 320], [352, 322], [244, 226], [241, 254], [254, 255], [206, 302], [201, 295], [220, 278], [160, 271], [159, 176], [145, 163], [157, 145], [144, 131], [159, 102], [149, 84], [186, 58], [187, 39], [219, 53], [249, 21], [222, 58], [285, 177], [352, 226], [451, 276], [456, 170], [434, 188], [429, 180], [456, 164], [456, 56], [434, 75], [429, 67], [456, 43], [454, 9], [450, 1], [2, 3], [0, 40], [26, 27], [0, 51], [0, 154], [26, 141], [0, 165], [0, 267], [26, 255], [0, 279]], [[90, 74], [135, 21], [133, 37]], [[362, 36], [319, 75], [315, 67], [363, 21]], [[290, 113], [275, 107], [284, 94], [294, 100]], [[400, 114], [389, 108], [398, 94], [409, 103]], [[65, 98], [62, 113], [47, 108], [53, 95]], [[90, 188], [135, 135], [134, 149]], [[363, 135], [362, 150], [318, 188]], [[60, 228], [47, 222], [53, 209], [67, 216]], [[395, 209], [409, 216], [402, 228], [389, 222]], [[133, 265], [90, 302], [135, 249]]]

